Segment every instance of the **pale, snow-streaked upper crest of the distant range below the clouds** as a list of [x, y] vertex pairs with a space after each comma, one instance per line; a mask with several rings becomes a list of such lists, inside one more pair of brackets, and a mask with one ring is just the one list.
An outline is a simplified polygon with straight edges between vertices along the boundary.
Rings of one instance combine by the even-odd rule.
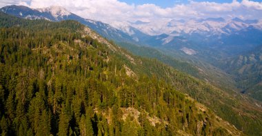
[[165, 21], [163, 23], [137, 21], [130, 26], [141, 30], [148, 35], [167, 34], [171, 36], [183, 35], [232, 35], [234, 32], [254, 27], [262, 30], [262, 20], [242, 20], [239, 18], [223, 19], [188, 19]]

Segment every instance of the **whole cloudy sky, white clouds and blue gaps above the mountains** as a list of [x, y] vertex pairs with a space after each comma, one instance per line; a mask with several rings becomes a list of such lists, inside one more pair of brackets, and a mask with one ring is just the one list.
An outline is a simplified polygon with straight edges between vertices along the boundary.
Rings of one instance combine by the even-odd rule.
[[262, 0], [0, 0], [0, 7], [62, 6], [74, 14], [105, 23], [168, 21], [172, 19], [262, 19]]

